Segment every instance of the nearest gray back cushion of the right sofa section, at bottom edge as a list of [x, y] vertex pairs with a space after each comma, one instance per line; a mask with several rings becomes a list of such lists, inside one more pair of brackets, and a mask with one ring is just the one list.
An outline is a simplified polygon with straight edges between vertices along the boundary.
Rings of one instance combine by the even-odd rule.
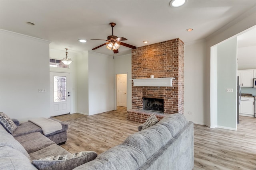
[[146, 162], [141, 150], [129, 144], [112, 147], [74, 170], [137, 170]]

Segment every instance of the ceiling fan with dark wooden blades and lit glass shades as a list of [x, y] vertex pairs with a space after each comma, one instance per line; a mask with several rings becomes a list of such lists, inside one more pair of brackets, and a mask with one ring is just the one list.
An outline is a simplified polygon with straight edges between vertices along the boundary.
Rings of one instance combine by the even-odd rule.
[[108, 41], [108, 42], [106, 42], [102, 45], [99, 45], [98, 47], [95, 47], [92, 50], [98, 49], [98, 48], [102, 47], [103, 45], [107, 45], [106, 48], [108, 48], [110, 50], [113, 50], [114, 53], [116, 54], [116, 53], [118, 53], [118, 48], [120, 47], [120, 45], [123, 45], [125, 47], [129, 47], [131, 49], [136, 49], [137, 48], [133, 45], [121, 42], [121, 41], [124, 41], [124, 40], [127, 40], [127, 39], [124, 38], [124, 37], [117, 37], [117, 36], [113, 35], [113, 29], [114, 29], [114, 26], [116, 25], [116, 23], [110, 22], [109, 24], [112, 27], [112, 35], [109, 35], [107, 37], [107, 39], [91, 39], [91, 40], [104, 40], [104, 41]]

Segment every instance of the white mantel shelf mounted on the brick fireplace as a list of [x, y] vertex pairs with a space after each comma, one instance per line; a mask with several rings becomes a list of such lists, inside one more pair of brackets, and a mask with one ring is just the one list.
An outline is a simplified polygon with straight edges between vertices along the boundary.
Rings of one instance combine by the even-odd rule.
[[133, 86], [149, 86], [149, 87], [172, 87], [173, 77], [166, 78], [134, 78]]

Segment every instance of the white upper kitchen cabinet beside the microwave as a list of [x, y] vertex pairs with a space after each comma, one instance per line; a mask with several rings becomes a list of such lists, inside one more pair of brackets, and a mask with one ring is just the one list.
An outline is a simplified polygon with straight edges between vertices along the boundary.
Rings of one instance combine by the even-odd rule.
[[254, 70], [238, 70], [237, 75], [239, 76], [239, 84], [241, 87], [252, 87]]

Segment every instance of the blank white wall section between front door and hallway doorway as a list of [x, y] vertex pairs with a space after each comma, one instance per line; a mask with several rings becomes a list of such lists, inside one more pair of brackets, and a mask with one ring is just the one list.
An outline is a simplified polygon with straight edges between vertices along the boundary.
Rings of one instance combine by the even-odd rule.
[[114, 59], [89, 52], [89, 115], [114, 110]]

